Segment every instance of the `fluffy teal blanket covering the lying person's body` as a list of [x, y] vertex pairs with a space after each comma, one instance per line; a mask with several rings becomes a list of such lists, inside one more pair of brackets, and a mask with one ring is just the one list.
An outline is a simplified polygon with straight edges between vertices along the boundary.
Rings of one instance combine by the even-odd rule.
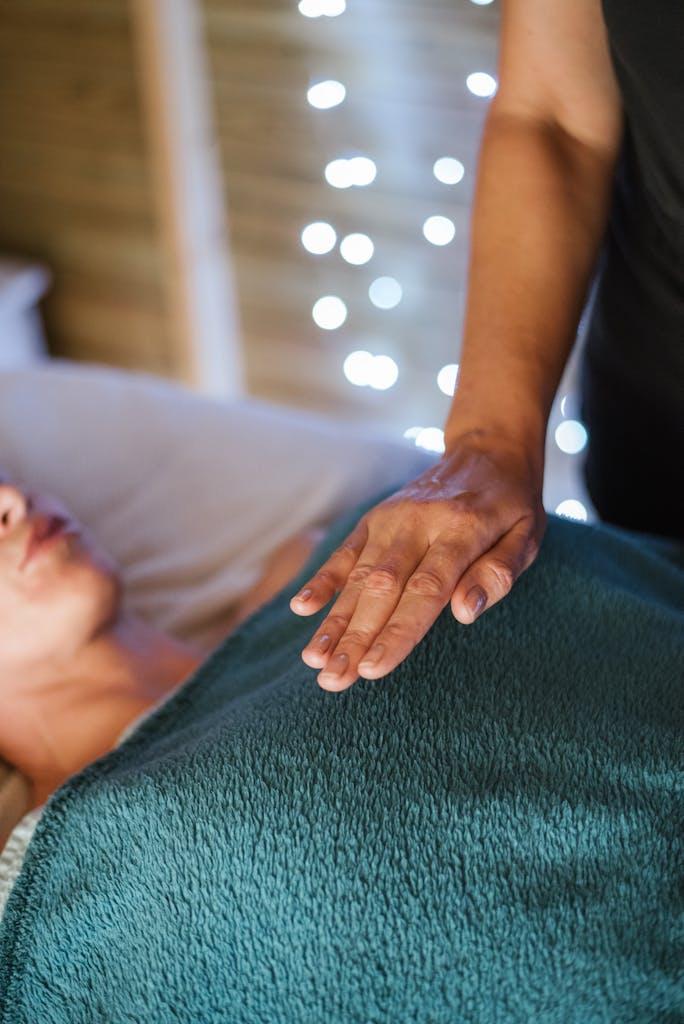
[[684, 1020], [683, 554], [552, 519], [337, 695], [275, 598], [48, 804], [0, 1020]]

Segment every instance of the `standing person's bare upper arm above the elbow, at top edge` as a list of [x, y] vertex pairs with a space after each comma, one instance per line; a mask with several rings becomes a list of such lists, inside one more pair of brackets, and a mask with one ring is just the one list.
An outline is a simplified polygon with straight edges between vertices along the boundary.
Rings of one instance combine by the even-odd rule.
[[547, 121], [614, 152], [623, 111], [600, 0], [504, 0], [499, 113]]

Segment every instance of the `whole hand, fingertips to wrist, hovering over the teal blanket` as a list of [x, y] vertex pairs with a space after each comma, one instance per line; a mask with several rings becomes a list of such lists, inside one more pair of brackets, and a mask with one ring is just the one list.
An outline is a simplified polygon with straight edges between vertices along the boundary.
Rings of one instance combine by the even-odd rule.
[[450, 601], [467, 625], [505, 597], [539, 551], [542, 475], [541, 457], [468, 434], [367, 512], [290, 604], [310, 615], [339, 595], [302, 652], [319, 685], [386, 675]]

